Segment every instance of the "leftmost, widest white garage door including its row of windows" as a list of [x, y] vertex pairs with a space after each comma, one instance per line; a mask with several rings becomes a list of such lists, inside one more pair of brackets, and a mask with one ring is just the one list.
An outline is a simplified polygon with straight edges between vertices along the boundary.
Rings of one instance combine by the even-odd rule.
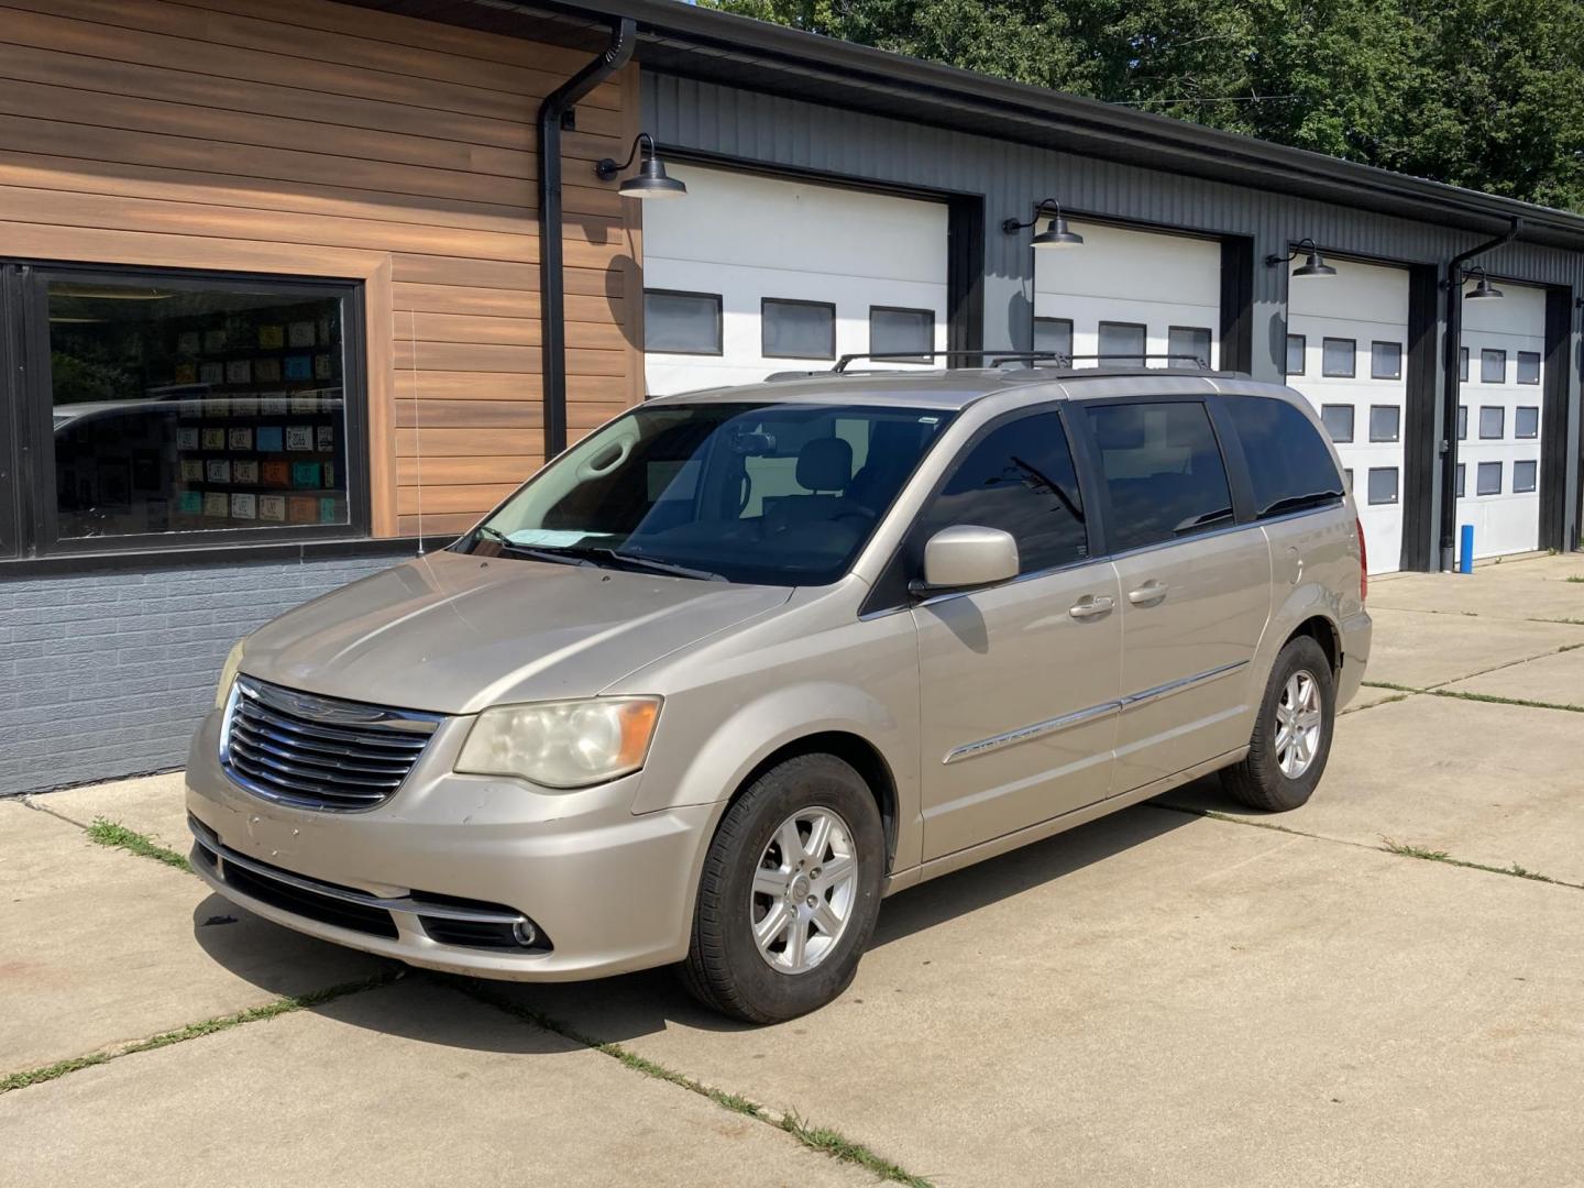
[[651, 396], [819, 371], [846, 353], [946, 348], [944, 203], [668, 173], [687, 196], [643, 208]]

